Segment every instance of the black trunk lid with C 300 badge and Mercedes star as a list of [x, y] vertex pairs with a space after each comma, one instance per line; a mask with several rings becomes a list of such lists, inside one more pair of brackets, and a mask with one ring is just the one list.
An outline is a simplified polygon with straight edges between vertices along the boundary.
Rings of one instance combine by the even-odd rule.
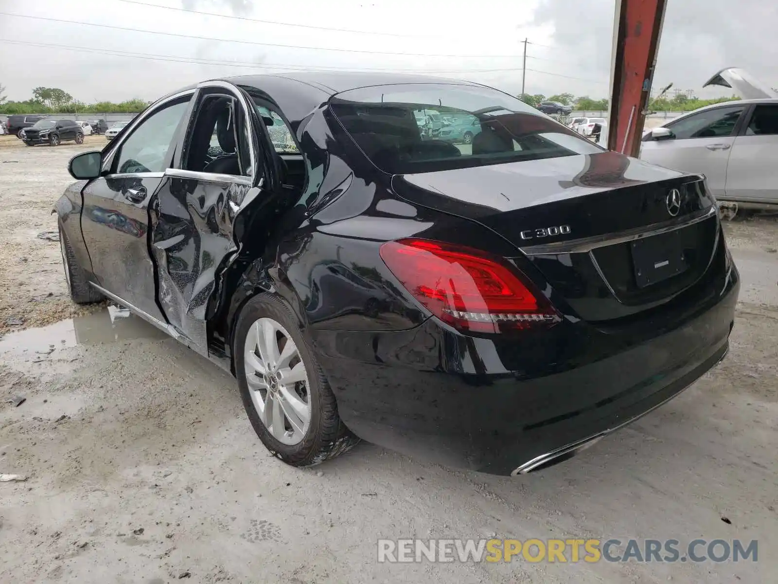
[[510, 241], [541, 288], [550, 283], [589, 321], [634, 315], [688, 289], [719, 237], [702, 177], [615, 152], [396, 176], [392, 185]]

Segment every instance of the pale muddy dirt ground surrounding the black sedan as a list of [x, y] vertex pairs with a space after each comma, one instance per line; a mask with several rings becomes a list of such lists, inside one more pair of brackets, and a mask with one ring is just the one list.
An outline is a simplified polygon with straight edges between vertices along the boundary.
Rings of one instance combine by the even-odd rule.
[[[727, 359], [582, 455], [509, 478], [363, 443], [296, 470], [268, 455], [229, 375], [65, 296], [58, 243], [38, 234], [57, 229], [68, 158], [103, 144], [0, 137], [0, 473], [27, 477], [0, 482], [3, 582], [776, 581], [773, 218], [726, 224], [743, 280]], [[380, 564], [384, 537], [740, 538], [759, 561]]]

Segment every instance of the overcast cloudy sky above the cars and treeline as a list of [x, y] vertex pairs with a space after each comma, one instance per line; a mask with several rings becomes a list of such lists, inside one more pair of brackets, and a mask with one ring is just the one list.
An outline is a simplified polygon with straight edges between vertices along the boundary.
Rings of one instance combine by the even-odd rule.
[[[13, 100], [36, 86], [85, 102], [152, 100], [219, 76], [391, 69], [518, 93], [528, 38], [527, 93], [606, 97], [614, 9], [615, 0], [0, 0], [0, 84]], [[699, 88], [725, 66], [778, 86], [776, 30], [776, 2], [668, 0], [654, 86], [720, 95]]]

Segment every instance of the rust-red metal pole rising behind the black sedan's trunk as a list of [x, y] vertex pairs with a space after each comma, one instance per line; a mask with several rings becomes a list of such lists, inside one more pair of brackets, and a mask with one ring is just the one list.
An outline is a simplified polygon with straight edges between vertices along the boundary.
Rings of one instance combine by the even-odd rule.
[[616, 0], [608, 149], [636, 157], [667, 0]]

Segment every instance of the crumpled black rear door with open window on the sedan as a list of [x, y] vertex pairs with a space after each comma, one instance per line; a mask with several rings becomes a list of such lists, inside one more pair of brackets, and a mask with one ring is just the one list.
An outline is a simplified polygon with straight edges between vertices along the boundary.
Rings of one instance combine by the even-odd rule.
[[238, 250], [233, 227], [261, 192], [256, 117], [237, 87], [201, 84], [152, 207], [159, 306], [172, 332], [206, 357], [206, 309]]

